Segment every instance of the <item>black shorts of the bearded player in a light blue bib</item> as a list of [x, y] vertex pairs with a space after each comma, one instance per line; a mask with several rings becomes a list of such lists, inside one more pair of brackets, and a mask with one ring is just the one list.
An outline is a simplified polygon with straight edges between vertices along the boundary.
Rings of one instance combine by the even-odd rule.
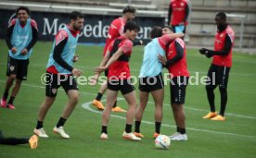
[[56, 97], [60, 86], [63, 87], [66, 93], [70, 90], [78, 90], [76, 80], [72, 75], [60, 75], [46, 72], [45, 96]]

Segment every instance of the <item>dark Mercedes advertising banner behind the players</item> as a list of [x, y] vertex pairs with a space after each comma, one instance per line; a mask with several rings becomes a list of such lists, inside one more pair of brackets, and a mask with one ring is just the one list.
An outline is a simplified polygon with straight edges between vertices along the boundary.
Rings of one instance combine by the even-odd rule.
[[[6, 36], [8, 22], [16, 18], [15, 10], [0, 9], [0, 38]], [[84, 15], [84, 26], [81, 31], [79, 43], [105, 43], [108, 36], [109, 24], [114, 18], [120, 16]], [[32, 11], [33, 18], [38, 25], [39, 41], [53, 41], [58, 30], [69, 23], [69, 13], [36, 12]], [[162, 26], [164, 18], [136, 17], [134, 19], [140, 26], [137, 39], [148, 39], [149, 31], [154, 26]]]

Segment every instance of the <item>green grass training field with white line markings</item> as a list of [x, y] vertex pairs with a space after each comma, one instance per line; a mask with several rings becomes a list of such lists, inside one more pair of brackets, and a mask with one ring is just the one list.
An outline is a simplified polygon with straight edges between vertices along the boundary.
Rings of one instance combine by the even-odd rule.
[[[36, 43], [30, 60], [28, 80], [23, 82], [14, 104], [15, 110], [0, 108], [0, 129], [6, 137], [30, 137], [36, 125], [37, 113], [45, 97], [41, 76], [45, 73], [52, 43]], [[84, 71], [84, 76], [93, 75], [102, 58], [100, 46], [79, 45], [79, 62], [75, 67]], [[211, 64], [198, 54], [187, 50], [187, 63], [191, 76], [205, 76]], [[0, 41], [0, 96], [6, 82], [6, 43]], [[143, 47], [134, 47], [130, 66], [132, 74], [138, 76], [143, 56]], [[65, 92], [60, 89], [56, 103], [46, 115], [44, 128], [48, 139], [40, 139], [39, 147], [31, 150], [28, 145], [0, 145], [0, 157], [255, 157], [256, 155], [256, 55], [234, 53], [234, 65], [230, 72], [226, 121], [213, 122], [201, 117], [209, 112], [204, 86], [189, 85], [186, 90], [186, 129], [188, 141], [172, 141], [171, 149], [162, 151], [154, 148], [154, 104], [152, 98], [147, 105], [141, 132], [146, 136], [142, 141], [122, 140], [125, 114], [112, 113], [109, 121], [109, 140], [100, 140], [101, 113], [90, 102], [95, 98], [99, 85], [80, 85], [81, 98], [65, 125], [70, 140], [63, 140], [52, 132], [63, 107], [67, 102]], [[166, 70], [164, 70], [167, 72]], [[137, 88], [137, 85], [136, 85]], [[165, 86], [164, 116], [161, 133], [171, 135], [175, 131], [173, 113], [170, 107], [169, 85]], [[138, 96], [138, 91], [136, 90]], [[216, 109], [220, 109], [219, 91], [216, 89]], [[105, 103], [106, 97], [103, 98]], [[127, 109], [122, 100], [118, 105]]]

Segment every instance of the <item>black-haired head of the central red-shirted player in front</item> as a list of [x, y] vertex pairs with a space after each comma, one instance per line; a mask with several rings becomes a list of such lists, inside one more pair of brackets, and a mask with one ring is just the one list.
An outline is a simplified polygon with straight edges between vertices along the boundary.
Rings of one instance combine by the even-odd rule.
[[123, 32], [127, 35], [130, 40], [134, 40], [138, 34], [139, 26], [135, 21], [128, 21], [124, 25]]

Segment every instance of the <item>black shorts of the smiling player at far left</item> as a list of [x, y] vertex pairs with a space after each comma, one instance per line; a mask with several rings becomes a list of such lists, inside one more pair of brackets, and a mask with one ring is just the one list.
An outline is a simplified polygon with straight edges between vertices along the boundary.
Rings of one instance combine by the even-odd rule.
[[8, 56], [6, 76], [9, 77], [11, 74], [15, 74], [16, 79], [27, 80], [29, 64], [29, 59], [19, 60]]

